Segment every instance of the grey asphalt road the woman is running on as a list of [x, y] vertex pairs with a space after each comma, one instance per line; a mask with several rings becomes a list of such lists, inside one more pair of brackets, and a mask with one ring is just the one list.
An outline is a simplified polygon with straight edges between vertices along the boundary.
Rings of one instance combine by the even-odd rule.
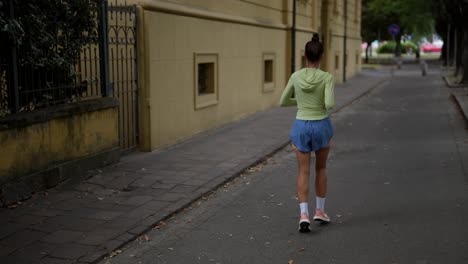
[[102, 263], [468, 263], [467, 130], [439, 73], [408, 67], [332, 116], [332, 224], [298, 233], [284, 149]]

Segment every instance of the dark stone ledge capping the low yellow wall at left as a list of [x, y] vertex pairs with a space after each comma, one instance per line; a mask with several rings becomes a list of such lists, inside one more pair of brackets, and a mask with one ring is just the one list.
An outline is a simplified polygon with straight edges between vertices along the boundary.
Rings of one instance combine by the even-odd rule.
[[76, 103], [51, 106], [31, 112], [11, 114], [0, 118], [0, 131], [44, 123], [52, 119], [93, 112], [118, 106], [114, 98], [105, 97]]

